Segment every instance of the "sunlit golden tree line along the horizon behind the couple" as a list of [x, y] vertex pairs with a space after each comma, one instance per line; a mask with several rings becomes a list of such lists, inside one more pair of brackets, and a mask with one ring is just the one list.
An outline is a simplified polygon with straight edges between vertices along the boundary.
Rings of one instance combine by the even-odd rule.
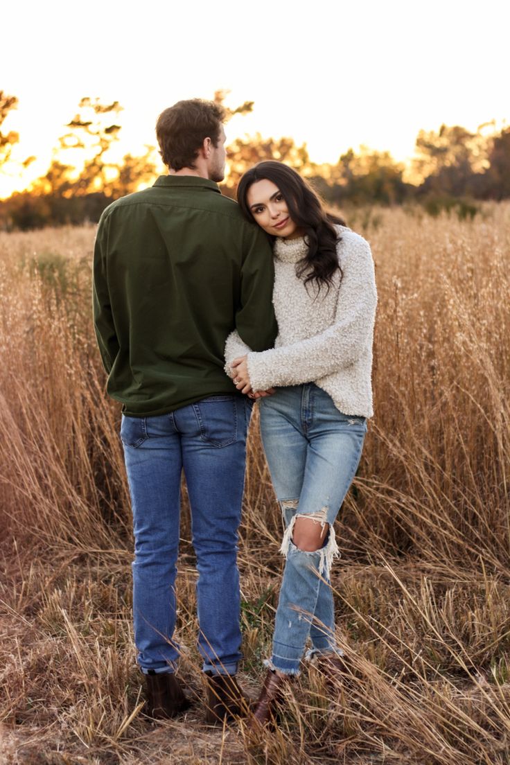
[[[226, 91], [215, 99], [223, 103]], [[0, 168], [14, 162], [12, 149], [20, 137], [4, 132], [3, 123], [18, 99], [0, 91]], [[247, 101], [229, 116], [252, 111]], [[0, 229], [36, 229], [65, 223], [97, 221], [102, 210], [118, 197], [151, 184], [165, 172], [158, 151], [146, 145], [141, 155], [115, 158], [122, 126], [122, 106], [115, 101], [83, 98], [76, 114], [57, 139], [47, 172], [27, 190], [0, 202]], [[326, 203], [348, 209], [374, 204], [421, 203], [428, 213], [456, 210], [473, 216], [479, 200], [510, 197], [510, 128], [495, 129], [488, 123], [476, 133], [460, 125], [441, 125], [437, 131], [417, 135], [411, 168], [395, 161], [388, 151], [349, 148], [336, 164], [310, 160], [306, 144], [293, 138], [265, 138], [260, 133], [236, 138], [228, 148], [229, 174], [224, 194], [235, 197], [242, 173], [262, 159], [278, 159], [307, 177]], [[34, 157], [18, 162], [28, 167]], [[406, 178], [411, 170], [411, 183]], [[407, 172], [406, 172], [407, 171]]]

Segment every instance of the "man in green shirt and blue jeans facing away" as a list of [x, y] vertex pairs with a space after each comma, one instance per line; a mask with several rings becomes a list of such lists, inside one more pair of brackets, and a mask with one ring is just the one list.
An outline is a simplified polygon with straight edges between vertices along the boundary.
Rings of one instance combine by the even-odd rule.
[[174, 640], [180, 476], [187, 480], [197, 554], [199, 649], [206, 720], [242, 711], [237, 530], [252, 402], [223, 371], [236, 328], [271, 347], [271, 247], [219, 193], [224, 111], [180, 101], [156, 127], [169, 174], [112, 203], [94, 251], [94, 323], [107, 390], [122, 402], [121, 438], [135, 532], [133, 617], [148, 712], [189, 705]]

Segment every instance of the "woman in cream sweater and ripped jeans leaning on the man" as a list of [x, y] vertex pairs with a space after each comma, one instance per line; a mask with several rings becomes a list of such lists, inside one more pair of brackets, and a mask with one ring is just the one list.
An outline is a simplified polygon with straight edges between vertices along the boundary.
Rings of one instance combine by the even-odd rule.
[[237, 389], [261, 399], [261, 438], [285, 524], [272, 656], [254, 712], [264, 724], [284, 682], [299, 674], [309, 637], [307, 657], [330, 671], [341, 664], [329, 584], [339, 554], [333, 522], [372, 416], [377, 295], [368, 243], [334, 225], [296, 171], [261, 162], [242, 176], [238, 200], [273, 241], [278, 320], [272, 350], [253, 353], [236, 333], [226, 343]]

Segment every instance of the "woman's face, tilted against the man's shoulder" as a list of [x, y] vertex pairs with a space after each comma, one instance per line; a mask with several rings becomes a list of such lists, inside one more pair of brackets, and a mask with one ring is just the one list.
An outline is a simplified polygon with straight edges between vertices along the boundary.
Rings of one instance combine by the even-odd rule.
[[246, 193], [246, 201], [255, 223], [271, 236], [281, 236], [283, 239], [301, 236], [289, 215], [283, 194], [272, 181], [267, 178], [255, 181]]

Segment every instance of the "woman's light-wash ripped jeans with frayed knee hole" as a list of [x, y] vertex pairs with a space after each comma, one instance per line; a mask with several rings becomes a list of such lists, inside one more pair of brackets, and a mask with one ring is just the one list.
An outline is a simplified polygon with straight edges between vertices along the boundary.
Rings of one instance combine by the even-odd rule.
[[[311, 658], [342, 653], [335, 644], [330, 566], [338, 554], [333, 523], [361, 457], [364, 417], [344, 415], [314, 385], [280, 388], [260, 402], [261, 437], [274, 491], [281, 505], [286, 559], [274, 622], [271, 669], [299, 674], [310, 636]], [[323, 548], [300, 550], [292, 542], [294, 522], [307, 516], [328, 523]]]

